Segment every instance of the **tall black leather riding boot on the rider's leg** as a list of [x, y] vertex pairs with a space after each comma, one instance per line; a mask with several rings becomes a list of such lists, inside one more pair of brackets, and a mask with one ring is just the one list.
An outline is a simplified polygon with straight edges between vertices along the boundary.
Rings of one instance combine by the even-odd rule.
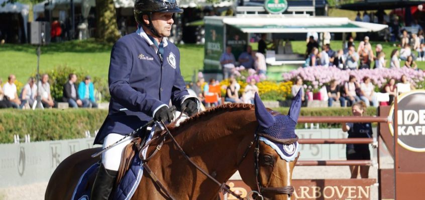
[[106, 169], [100, 164], [96, 179], [94, 179], [93, 188], [91, 189], [91, 200], [108, 200], [114, 186], [117, 171]]

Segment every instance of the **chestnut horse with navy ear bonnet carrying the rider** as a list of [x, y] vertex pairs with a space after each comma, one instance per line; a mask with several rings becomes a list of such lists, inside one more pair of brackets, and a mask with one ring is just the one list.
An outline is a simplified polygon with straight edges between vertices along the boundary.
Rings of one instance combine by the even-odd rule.
[[[190, 159], [219, 182], [226, 182], [239, 170], [242, 180], [265, 199], [290, 199], [293, 192], [290, 186], [292, 169], [299, 152], [294, 151], [296, 155], [287, 161], [272, 145], [256, 139], [259, 137], [257, 130], [271, 126], [275, 122], [273, 117], [289, 115], [266, 109], [258, 95], [255, 103], [255, 107], [232, 103], [210, 108], [186, 119], [178, 127], [169, 127], [170, 132]], [[296, 117], [292, 117], [295, 124], [300, 102], [298, 104], [297, 108], [290, 109], [290, 112], [295, 112]], [[294, 127], [286, 127], [292, 129], [292, 136]], [[278, 143], [283, 140], [270, 135], [267, 138]], [[297, 137], [291, 139], [289, 143], [297, 144]], [[159, 141], [151, 143], [147, 154], [153, 152], [158, 144]], [[99, 161], [99, 157], [90, 156], [99, 150], [81, 150], [63, 160], [50, 178], [45, 199], [71, 199], [81, 174]], [[147, 164], [175, 199], [219, 198], [220, 185], [190, 164], [169, 138]], [[279, 188], [285, 188], [285, 191], [279, 192]], [[145, 169], [132, 199], [167, 198]], [[261, 198], [257, 196], [257, 199]]]

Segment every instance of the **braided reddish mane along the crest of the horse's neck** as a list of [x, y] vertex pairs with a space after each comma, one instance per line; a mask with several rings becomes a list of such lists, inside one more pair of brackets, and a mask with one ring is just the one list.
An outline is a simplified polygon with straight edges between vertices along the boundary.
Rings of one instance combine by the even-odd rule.
[[186, 120], [182, 121], [179, 126], [168, 127], [168, 128], [170, 130], [171, 129], [176, 130], [199, 118], [202, 118], [204, 116], [209, 116], [214, 113], [218, 113], [219, 111], [251, 109], [253, 107], [254, 107], [254, 104], [249, 104], [249, 103], [226, 103], [216, 107], [208, 108], [203, 112], [198, 112], [197, 114], [191, 116], [190, 118], [187, 118]]

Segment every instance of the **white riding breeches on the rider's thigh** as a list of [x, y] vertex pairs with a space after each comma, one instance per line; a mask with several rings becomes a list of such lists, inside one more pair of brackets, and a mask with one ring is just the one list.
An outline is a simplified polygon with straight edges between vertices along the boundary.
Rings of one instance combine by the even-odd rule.
[[[124, 135], [117, 134], [117, 133], [110, 133], [108, 134], [104, 141], [102, 147], [105, 148], [116, 141], [123, 138]], [[134, 137], [130, 136], [119, 143], [117, 143], [115, 146], [111, 147], [107, 151], [102, 153], [102, 164], [105, 168], [110, 170], [118, 171], [118, 168], [120, 167], [121, 162], [121, 155], [123, 153], [124, 148], [129, 144]]]

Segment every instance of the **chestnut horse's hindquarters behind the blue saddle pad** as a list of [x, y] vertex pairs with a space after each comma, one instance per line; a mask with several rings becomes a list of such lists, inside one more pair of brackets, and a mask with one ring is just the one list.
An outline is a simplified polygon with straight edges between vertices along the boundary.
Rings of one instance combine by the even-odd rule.
[[72, 193], [81, 174], [99, 157], [91, 155], [100, 148], [89, 148], [78, 151], [65, 158], [55, 169], [47, 185], [45, 200], [71, 199]]

